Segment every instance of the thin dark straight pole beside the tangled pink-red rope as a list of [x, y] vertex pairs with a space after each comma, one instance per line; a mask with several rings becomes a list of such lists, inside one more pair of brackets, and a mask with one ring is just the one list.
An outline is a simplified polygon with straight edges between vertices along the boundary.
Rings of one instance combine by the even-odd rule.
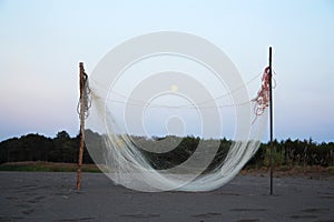
[[273, 195], [273, 82], [272, 82], [272, 47], [269, 47], [269, 128], [271, 128], [271, 195]]

